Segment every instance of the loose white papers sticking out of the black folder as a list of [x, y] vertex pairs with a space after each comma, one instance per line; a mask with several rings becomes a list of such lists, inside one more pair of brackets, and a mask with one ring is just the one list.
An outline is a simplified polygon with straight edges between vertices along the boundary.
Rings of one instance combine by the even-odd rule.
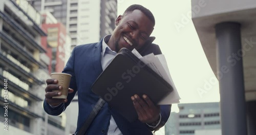
[[163, 54], [154, 55], [153, 53], [151, 53], [142, 57], [136, 49], [134, 49], [132, 53], [135, 56], [137, 56], [141, 61], [143, 61], [145, 64], [147, 64], [147, 66], [149, 66], [158, 75], [160, 75], [165, 81], [167, 81], [170, 85], [173, 86], [174, 91], [172, 93], [169, 93], [169, 95], [163, 98], [158, 104], [179, 103], [180, 96], [174, 85], [173, 79], [170, 76], [169, 69], [168, 69], [167, 62], [164, 55]]

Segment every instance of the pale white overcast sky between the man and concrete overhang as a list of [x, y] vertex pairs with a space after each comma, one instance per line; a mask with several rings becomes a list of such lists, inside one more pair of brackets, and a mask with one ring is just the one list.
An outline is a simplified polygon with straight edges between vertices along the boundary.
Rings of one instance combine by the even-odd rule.
[[[219, 83], [191, 20], [190, 1], [118, 0], [118, 15], [132, 4], [150, 9], [155, 16], [151, 36], [166, 58], [180, 103], [219, 102]], [[177, 104], [172, 111], [178, 111]]]

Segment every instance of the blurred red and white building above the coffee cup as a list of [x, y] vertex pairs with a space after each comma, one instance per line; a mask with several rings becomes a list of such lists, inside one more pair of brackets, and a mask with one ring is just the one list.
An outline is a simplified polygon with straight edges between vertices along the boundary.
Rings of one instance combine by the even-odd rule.
[[49, 73], [62, 72], [71, 54], [71, 38], [66, 32], [65, 26], [51, 15], [50, 12], [42, 12], [42, 29], [47, 37], [43, 37], [41, 44], [47, 50], [50, 58]]

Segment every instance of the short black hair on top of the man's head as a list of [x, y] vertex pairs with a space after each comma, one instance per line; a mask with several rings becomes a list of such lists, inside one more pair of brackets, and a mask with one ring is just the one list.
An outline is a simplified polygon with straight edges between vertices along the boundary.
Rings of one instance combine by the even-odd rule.
[[155, 17], [154, 15], [152, 14], [152, 12], [150, 10], [148, 10], [147, 8], [141, 6], [141, 5], [138, 5], [138, 4], [134, 4], [134, 5], [131, 5], [129, 6], [123, 13], [123, 15], [125, 15], [126, 13], [131, 13], [133, 12], [134, 10], [140, 10], [142, 13], [144, 13], [154, 24], [155, 26]]

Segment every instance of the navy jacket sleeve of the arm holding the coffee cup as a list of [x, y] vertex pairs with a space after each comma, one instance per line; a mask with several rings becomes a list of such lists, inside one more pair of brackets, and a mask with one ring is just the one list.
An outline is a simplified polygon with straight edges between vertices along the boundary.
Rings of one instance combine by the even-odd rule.
[[77, 92], [77, 88], [76, 88], [76, 77], [75, 77], [75, 50], [76, 48], [73, 49], [72, 54], [64, 68], [64, 70], [62, 71], [62, 73], [67, 73], [67, 74], [71, 74], [71, 81], [70, 81], [70, 88], [74, 89], [74, 92], [71, 94], [68, 94], [68, 102], [66, 103], [61, 103], [60, 105], [58, 105], [57, 107], [52, 107], [50, 106], [46, 100], [44, 101], [44, 109], [46, 111], [47, 114], [49, 115], [60, 115], [66, 108], [67, 106], [70, 104], [70, 102], [72, 101], [72, 99], [74, 98], [76, 92]]

